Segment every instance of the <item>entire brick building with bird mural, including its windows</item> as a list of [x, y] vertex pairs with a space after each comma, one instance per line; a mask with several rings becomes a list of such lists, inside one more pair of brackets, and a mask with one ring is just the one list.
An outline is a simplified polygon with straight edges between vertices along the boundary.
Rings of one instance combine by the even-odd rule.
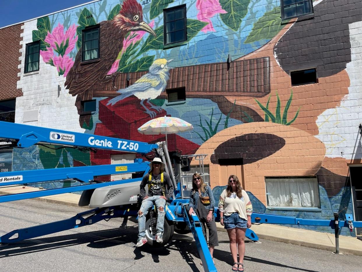
[[[360, 0], [135, 2], [0, 29], [2, 118], [153, 143], [164, 136], [137, 128], [179, 117], [194, 130], [170, 135], [169, 149], [206, 154], [211, 187], [236, 174], [255, 211], [330, 219], [346, 208], [342, 219], [362, 220]], [[8, 170], [134, 156], [1, 152]]]

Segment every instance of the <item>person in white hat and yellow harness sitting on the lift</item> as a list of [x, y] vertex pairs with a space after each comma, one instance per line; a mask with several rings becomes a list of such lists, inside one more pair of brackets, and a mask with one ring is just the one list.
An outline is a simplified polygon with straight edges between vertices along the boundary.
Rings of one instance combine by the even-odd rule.
[[[153, 205], [158, 209], [158, 218], [156, 226], [156, 241], [163, 243], [163, 230], [165, 221], [166, 201], [168, 201], [173, 193], [173, 185], [170, 176], [164, 172], [165, 164], [160, 158], [154, 158], [150, 163], [151, 171], [146, 174], [140, 184], [140, 195], [142, 204], [138, 211], [138, 241], [136, 247], [143, 246], [147, 243], [146, 239], [146, 214]], [[144, 187], [148, 184], [148, 195]], [[167, 187], [167, 193], [166, 193]]]

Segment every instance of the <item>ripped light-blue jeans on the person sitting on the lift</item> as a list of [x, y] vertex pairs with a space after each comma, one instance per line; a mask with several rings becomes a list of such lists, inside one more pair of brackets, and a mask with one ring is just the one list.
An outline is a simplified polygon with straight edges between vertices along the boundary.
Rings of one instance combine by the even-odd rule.
[[138, 215], [138, 238], [146, 236], [146, 214], [154, 204], [156, 205], [158, 211], [156, 233], [161, 232], [163, 234], [165, 209], [163, 211], [160, 211], [160, 207], [165, 208], [166, 200], [160, 197], [160, 195], [153, 195], [152, 197], [143, 199], [141, 207], [139, 209], [142, 212], [142, 215]]

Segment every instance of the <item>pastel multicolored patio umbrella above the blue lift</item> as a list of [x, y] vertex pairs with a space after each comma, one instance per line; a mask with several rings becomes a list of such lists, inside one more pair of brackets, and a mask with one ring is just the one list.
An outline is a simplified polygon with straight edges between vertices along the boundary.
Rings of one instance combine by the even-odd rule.
[[165, 134], [167, 143], [167, 133], [180, 133], [192, 129], [190, 123], [180, 118], [164, 116], [147, 121], [138, 128], [138, 131], [145, 135]]

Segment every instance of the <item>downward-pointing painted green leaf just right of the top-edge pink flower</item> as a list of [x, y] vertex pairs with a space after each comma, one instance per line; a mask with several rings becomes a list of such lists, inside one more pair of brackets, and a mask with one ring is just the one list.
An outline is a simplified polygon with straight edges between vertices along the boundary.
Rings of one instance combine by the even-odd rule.
[[251, 0], [220, 0], [221, 7], [227, 13], [220, 14], [221, 20], [232, 30], [237, 31], [241, 25], [241, 19], [248, 12]]

